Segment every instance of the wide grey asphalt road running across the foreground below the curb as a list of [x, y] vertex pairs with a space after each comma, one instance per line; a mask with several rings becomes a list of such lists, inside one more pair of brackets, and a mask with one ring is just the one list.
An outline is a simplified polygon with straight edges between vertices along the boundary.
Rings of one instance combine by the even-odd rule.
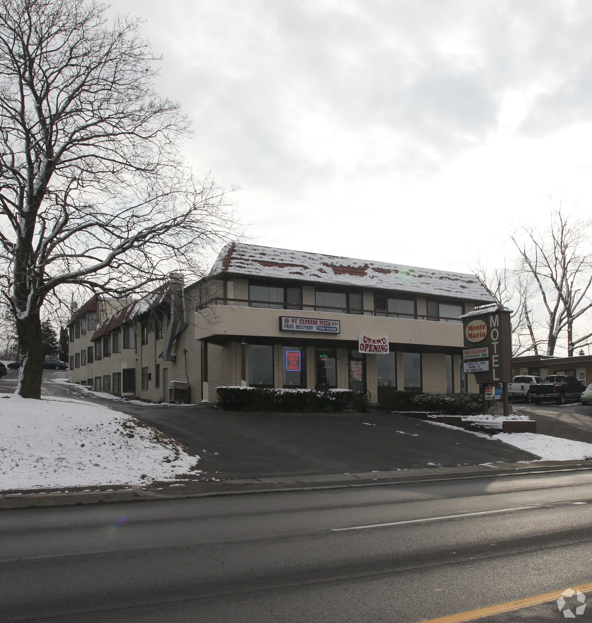
[[0, 621], [413, 623], [592, 581], [591, 527], [591, 472], [1, 511]]

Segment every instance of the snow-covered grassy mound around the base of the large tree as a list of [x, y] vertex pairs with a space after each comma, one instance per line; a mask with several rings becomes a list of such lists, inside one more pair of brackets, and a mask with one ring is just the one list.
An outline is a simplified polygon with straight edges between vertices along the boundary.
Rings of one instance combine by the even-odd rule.
[[68, 398], [0, 395], [0, 489], [145, 485], [199, 457], [134, 417]]

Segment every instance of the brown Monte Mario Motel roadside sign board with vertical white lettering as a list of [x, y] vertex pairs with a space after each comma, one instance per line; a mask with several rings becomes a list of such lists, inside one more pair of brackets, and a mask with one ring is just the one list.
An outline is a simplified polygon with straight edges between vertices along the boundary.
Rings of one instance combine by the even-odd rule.
[[511, 310], [489, 305], [464, 316], [464, 371], [477, 383], [512, 382]]

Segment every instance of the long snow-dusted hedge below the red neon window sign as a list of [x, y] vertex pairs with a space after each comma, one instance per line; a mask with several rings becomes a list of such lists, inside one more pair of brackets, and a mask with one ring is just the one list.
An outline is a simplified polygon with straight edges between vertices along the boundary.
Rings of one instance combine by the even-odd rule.
[[357, 411], [365, 411], [368, 399], [350, 389], [262, 389], [227, 386], [216, 388], [218, 406], [232, 411], [343, 411], [353, 402]]

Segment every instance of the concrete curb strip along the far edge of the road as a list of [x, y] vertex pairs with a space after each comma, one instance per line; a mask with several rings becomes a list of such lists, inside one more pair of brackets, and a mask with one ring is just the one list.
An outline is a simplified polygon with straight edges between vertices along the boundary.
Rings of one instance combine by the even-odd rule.
[[[592, 461], [540, 461], [507, 463], [500, 467], [492, 465], [458, 465], [455, 467], [418, 468], [394, 472], [364, 472], [357, 474], [319, 474], [284, 478], [237, 478], [220, 481], [220, 485], [234, 485], [230, 490], [200, 493], [155, 492], [137, 485], [118, 491], [71, 492], [71, 493], [9, 493], [0, 495], [0, 510], [37, 508], [41, 506], [81, 506], [113, 502], [147, 502], [154, 500], [185, 500], [188, 498], [227, 497], [230, 495], [254, 495], [256, 493], [289, 493], [347, 489], [359, 487], [384, 487], [414, 483], [449, 482], [452, 480], [479, 480], [544, 473], [584, 472], [592, 470]], [[309, 483], [309, 486], [298, 486]], [[315, 484], [316, 483], [316, 484]], [[293, 485], [274, 487], [270, 485]], [[263, 486], [261, 486], [263, 485]], [[250, 487], [250, 488], [246, 488]]]

